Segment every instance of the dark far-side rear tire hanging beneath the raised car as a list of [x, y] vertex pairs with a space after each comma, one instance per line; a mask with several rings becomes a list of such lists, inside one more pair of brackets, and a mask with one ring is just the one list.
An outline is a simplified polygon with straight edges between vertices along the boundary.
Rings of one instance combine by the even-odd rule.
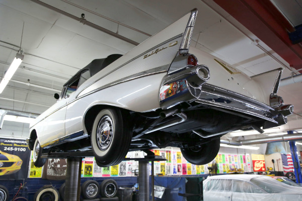
[[218, 154], [220, 139], [211, 140], [201, 147], [181, 148], [181, 153], [187, 161], [195, 165], [204, 165], [211, 162]]

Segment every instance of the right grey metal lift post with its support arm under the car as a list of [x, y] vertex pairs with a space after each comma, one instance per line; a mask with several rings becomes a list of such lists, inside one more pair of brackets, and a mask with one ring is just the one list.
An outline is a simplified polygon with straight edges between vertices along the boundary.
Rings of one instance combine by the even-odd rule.
[[125, 160], [138, 161], [138, 200], [149, 200], [149, 161], [151, 161], [152, 201], [154, 201], [154, 161], [166, 161], [163, 156], [156, 156], [150, 150], [144, 150], [144, 158], [125, 158]]

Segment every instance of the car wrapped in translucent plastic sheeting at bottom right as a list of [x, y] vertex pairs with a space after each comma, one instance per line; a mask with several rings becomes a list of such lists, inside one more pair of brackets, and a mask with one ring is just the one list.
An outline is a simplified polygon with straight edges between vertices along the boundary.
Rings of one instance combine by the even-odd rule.
[[203, 181], [203, 200], [302, 200], [302, 189], [265, 175], [218, 175]]

